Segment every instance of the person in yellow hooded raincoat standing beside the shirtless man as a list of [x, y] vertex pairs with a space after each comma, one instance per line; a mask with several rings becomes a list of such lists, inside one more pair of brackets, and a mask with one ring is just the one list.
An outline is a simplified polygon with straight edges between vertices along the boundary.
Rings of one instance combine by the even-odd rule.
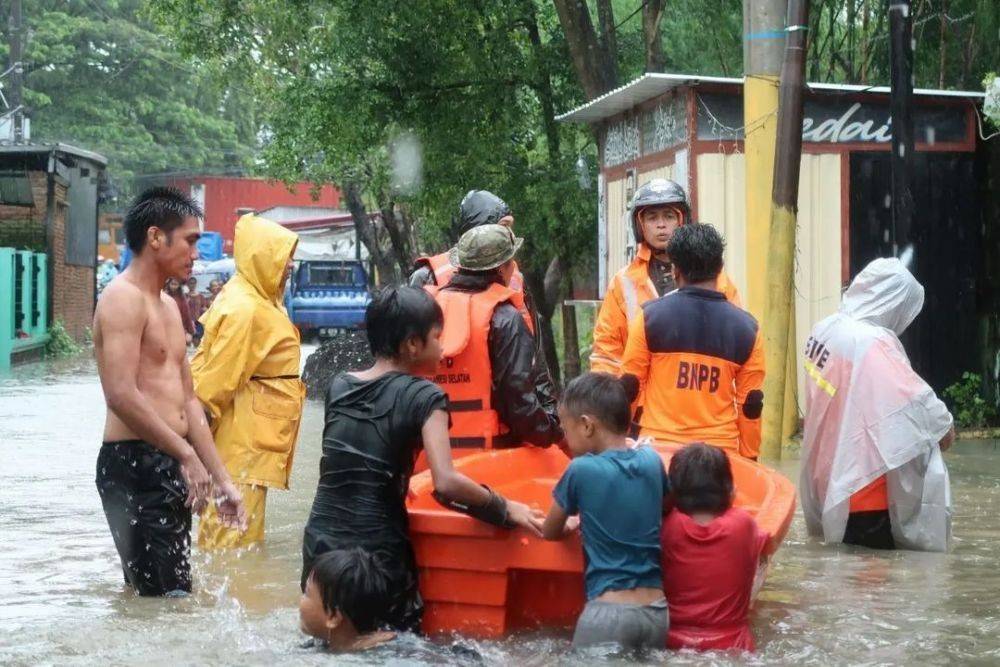
[[249, 517], [240, 534], [223, 526], [210, 505], [198, 531], [203, 549], [263, 540], [267, 489], [288, 488], [305, 398], [299, 333], [282, 305], [297, 242], [270, 220], [240, 218], [236, 275], [201, 318], [205, 335], [191, 361], [194, 389]]

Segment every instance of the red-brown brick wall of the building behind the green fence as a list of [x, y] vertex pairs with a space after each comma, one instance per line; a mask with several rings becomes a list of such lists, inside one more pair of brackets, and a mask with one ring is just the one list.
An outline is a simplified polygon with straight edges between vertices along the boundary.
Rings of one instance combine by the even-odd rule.
[[[42, 248], [44, 248], [44, 230], [46, 213], [47, 175], [42, 171], [29, 174], [31, 192], [35, 205], [0, 206], [0, 245], [4, 245], [4, 228], [13, 236], [23, 233], [42, 233]], [[91, 326], [94, 318], [94, 267], [73, 266], [66, 264], [66, 223], [69, 209], [66, 202], [67, 188], [64, 182], [56, 179], [55, 183], [56, 210], [53, 216], [53, 253], [49, 257], [49, 281], [52, 285], [52, 303], [49, 309], [49, 323], [62, 320], [71, 336], [82, 339]], [[32, 230], [35, 230], [32, 232]], [[32, 248], [35, 249], [35, 248]]]

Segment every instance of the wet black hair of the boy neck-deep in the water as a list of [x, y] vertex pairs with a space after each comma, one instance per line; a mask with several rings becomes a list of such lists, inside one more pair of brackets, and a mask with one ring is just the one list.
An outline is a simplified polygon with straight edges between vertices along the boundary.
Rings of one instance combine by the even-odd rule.
[[361, 547], [327, 551], [316, 559], [309, 578], [319, 588], [326, 613], [340, 611], [362, 634], [382, 625], [389, 606], [389, 579], [368, 551]]

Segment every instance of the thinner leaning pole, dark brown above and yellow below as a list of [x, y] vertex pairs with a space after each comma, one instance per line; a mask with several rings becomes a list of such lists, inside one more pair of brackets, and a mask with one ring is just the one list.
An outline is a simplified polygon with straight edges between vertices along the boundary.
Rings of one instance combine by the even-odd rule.
[[[809, 0], [789, 0], [785, 57], [778, 100], [778, 145], [768, 243], [767, 303], [764, 309], [766, 368], [785, 370], [795, 350], [791, 336], [795, 309], [795, 227], [798, 217], [799, 169], [802, 163], [802, 91], [805, 88]], [[761, 453], [780, 456], [787, 373], [768, 372], [764, 381], [764, 439]], [[793, 380], [794, 382], [794, 376]]]

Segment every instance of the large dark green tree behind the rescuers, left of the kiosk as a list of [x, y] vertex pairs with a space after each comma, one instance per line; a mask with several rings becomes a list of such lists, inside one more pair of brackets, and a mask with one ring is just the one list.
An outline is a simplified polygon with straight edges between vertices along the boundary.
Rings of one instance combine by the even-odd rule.
[[[153, 8], [192, 55], [244, 72], [268, 100], [270, 175], [341, 185], [383, 281], [402, 278], [418, 251], [445, 247], [467, 190], [506, 199], [526, 237], [520, 261], [558, 371], [552, 317], [596, 244], [596, 197], [581, 192], [575, 164], [581, 156], [593, 164], [596, 150], [589, 133], [554, 121], [579, 88], [549, 3], [159, 0]], [[390, 148], [402, 135], [422, 148], [417, 191], [392, 178]]]

